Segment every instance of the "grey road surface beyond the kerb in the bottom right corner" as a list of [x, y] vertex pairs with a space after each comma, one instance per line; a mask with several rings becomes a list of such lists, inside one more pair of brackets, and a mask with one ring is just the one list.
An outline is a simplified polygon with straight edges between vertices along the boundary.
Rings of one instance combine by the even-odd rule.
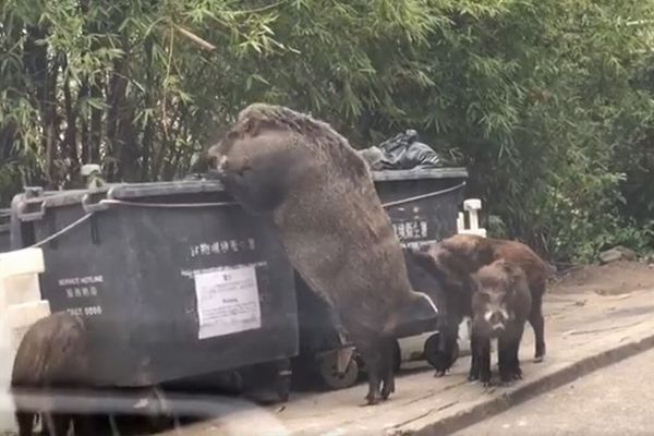
[[654, 350], [577, 379], [455, 436], [654, 435]]

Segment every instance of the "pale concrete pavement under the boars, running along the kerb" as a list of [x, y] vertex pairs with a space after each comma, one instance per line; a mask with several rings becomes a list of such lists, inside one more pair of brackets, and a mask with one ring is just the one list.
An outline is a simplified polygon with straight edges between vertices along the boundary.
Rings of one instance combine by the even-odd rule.
[[544, 312], [546, 360], [531, 362], [533, 332], [526, 328], [524, 379], [511, 386], [484, 389], [468, 383], [469, 359], [461, 359], [443, 378], [434, 378], [426, 364], [404, 370], [397, 393], [377, 407], [360, 407], [363, 384], [332, 392], [296, 392], [287, 404], [242, 408], [186, 426], [182, 434], [446, 435], [654, 347], [654, 290], [548, 294]]

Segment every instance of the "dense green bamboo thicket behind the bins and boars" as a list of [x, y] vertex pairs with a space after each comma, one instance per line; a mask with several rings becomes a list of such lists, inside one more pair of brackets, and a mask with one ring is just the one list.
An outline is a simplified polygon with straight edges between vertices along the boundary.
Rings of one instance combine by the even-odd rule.
[[1, 0], [0, 201], [183, 174], [255, 100], [363, 147], [407, 128], [492, 229], [569, 262], [654, 246], [654, 3]]

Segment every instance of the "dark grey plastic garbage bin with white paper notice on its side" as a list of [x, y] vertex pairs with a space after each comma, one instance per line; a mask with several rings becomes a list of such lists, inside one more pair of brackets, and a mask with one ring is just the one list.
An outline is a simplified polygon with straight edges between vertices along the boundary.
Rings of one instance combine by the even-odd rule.
[[20, 194], [13, 209], [17, 245], [48, 241], [52, 311], [106, 322], [98, 383], [147, 386], [298, 353], [293, 269], [276, 232], [219, 182]]

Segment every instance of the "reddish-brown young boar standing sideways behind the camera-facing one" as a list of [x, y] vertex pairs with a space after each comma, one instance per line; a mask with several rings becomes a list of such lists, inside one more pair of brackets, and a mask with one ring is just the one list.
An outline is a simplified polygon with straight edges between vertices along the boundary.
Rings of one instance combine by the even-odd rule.
[[[531, 311], [529, 323], [535, 336], [535, 361], [541, 362], [545, 355], [545, 323], [543, 319], [543, 294], [550, 274], [548, 265], [543, 262], [529, 246], [510, 240], [482, 238], [472, 234], [456, 234], [436, 244], [426, 252], [412, 252], [412, 262], [425, 271], [441, 280], [446, 292], [446, 303], [443, 305], [452, 323], [461, 322], [463, 316], [472, 315], [471, 275], [482, 266], [505, 258], [524, 271], [531, 292]], [[459, 324], [453, 324], [446, 337], [444, 348], [453, 346]], [[437, 368], [437, 375], [443, 375], [450, 364]]]

